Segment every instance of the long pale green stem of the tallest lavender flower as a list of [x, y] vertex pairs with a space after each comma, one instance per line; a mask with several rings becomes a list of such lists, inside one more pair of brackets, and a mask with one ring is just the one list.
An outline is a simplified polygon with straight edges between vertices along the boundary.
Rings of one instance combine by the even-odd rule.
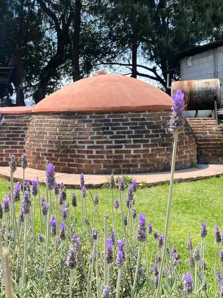
[[170, 219], [170, 213], [171, 213], [171, 201], [172, 201], [172, 192], [173, 192], [173, 184], [174, 184], [174, 170], [175, 170], [176, 153], [177, 153], [177, 135], [178, 135], [178, 133], [174, 134], [169, 199], [168, 199], [168, 206], [167, 206], [167, 212], [166, 212], [166, 226], [165, 226], [165, 234], [164, 234], [163, 257], [162, 257], [161, 266], [160, 266], [160, 274], [159, 274], [160, 277], [159, 277], [159, 281], [158, 281], [158, 285], [157, 285], [156, 298], [158, 298], [160, 295], [160, 288], [161, 288], [161, 283], [162, 283], [162, 279], [163, 279], [163, 277], [162, 277], [163, 267], [165, 265], [165, 259], [166, 259], [166, 246], [167, 246], [167, 240], [168, 240], [168, 228], [169, 228], [169, 219]]

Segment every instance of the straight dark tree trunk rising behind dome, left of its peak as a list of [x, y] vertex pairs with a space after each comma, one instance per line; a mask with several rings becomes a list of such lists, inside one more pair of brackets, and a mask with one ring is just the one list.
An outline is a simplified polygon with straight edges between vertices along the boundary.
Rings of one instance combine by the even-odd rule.
[[72, 76], [73, 81], [80, 79], [79, 56], [80, 56], [80, 25], [81, 25], [81, 0], [75, 1], [75, 17], [74, 17], [74, 42], [72, 54]]

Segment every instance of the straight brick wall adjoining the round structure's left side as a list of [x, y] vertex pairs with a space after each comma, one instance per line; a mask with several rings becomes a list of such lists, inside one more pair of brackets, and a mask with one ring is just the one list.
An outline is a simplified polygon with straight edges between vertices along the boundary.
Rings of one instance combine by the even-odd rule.
[[14, 154], [18, 164], [25, 152], [25, 136], [31, 115], [4, 114], [5, 123], [0, 126], [0, 165], [8, 165]]

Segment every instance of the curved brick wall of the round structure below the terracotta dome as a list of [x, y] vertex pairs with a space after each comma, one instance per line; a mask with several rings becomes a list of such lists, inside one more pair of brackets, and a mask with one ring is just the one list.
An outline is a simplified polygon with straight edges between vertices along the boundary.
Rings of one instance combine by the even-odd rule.
[[[26, 135], [29, 167], [68, 173], [170, 170], [173, 135], [169, 111], [109, 114], [33, 114]], [[176, 168], [197, 162], [188, 124], [179, 135]]]

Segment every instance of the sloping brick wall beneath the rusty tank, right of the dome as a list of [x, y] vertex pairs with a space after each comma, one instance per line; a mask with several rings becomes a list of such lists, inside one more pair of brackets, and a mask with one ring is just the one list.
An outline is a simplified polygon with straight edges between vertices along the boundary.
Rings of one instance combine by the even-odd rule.
[[199, 164], [223, 164], [223, 131], [213, 118], [188, 118], [197, 144]]

